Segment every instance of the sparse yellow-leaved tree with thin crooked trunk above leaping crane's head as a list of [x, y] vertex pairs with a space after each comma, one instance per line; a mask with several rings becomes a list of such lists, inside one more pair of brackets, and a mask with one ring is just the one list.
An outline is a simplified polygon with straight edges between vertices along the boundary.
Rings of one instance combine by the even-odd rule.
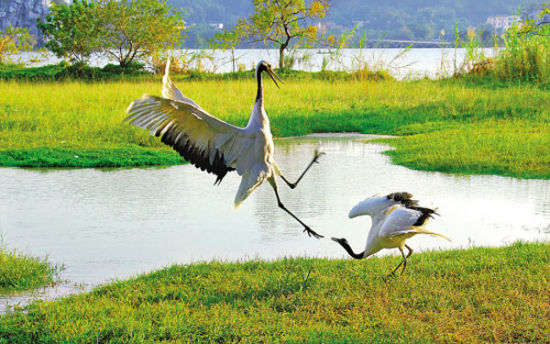
[[219, 42], [234, 46], [242, 41], [274, 44], [279, 49], [279, 68], [284, 66], [285, 49], [291, 42], [312, 42], [317, 37], [314, 20], [324, 18], [328, 0], [253, 0], [254, 13], [239, 19], [235, 29], [216, 35]]

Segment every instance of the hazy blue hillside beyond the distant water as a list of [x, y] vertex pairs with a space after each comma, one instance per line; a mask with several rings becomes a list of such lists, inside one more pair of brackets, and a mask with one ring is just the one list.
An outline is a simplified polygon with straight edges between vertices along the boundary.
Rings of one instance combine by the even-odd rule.
[[[185, 20], [194, 24], [188, 32], [187, 46], [205, 46], [206, 39], [222, 23], [231, 28], [253, 10], [252, 0], [169, 0], [185, 12]], [[369, 39], [452, 40], [455, 23], [460, 31], [482, 27], [496, 15], [521, 14], [523, 7], [544, 1], [532, 0], [332, 0], [323, 20], [330, 33], [339, 34], [357, 26], [358, 35]], [[212, 24], [209, 26], [209, 24]]]

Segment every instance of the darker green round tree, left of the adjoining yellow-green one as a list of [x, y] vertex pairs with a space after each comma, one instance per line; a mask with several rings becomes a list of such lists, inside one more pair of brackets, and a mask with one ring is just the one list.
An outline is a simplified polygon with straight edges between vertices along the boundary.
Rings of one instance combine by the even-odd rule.
[[94, 0], [75, 0], [69, 5], [54, 3], [45, 20], [38, 20], [48, 50], [57, 57], [82, 62], [101, 50], [104, 25], [105, 18]]

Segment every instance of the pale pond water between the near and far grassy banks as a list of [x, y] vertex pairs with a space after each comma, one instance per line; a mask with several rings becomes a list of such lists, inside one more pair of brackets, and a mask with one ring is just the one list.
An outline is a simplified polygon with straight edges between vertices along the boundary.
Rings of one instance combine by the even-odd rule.
[[[358, 138], [322, 135], [276, 141], [276, 160], [291, 180], [319, 142], [327, 153], [295, 190], [279, 183], [285, 205], [320, 234], [347, 237], [356, 251], [362, 250], [370, 220], [348, 219], [349, 209], [378, 192], [409, 191], [421, 205], [439, 208], [441, 217], [429, 228], [452, 239], [414, 237], [409, 244], [415, 252], [550, 239], [550, 181], [413, 171], [380, 154], [387, 146]], [[233, 210], [240, 178], [230, 173], [219, 186], [212, 185], [214, 180], [191, 165], [2, 168], [0, 232], [10, 248], [65, 264], [61, 278], [84, 288], [175, 263], [346, 257], [336, 243], [302, 233], [277, 208], [268, 183]], [[379, 254], [388, 253], [398, 252]], [[46, 294], [80, 290], [60, 288]]]

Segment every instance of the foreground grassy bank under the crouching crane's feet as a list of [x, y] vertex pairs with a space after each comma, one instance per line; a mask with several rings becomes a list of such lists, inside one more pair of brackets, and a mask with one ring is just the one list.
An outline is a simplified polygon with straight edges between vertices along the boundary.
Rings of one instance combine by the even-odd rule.
[[0, 317], [0, 343], [542, 343], [550, 246], [172, 266]]

